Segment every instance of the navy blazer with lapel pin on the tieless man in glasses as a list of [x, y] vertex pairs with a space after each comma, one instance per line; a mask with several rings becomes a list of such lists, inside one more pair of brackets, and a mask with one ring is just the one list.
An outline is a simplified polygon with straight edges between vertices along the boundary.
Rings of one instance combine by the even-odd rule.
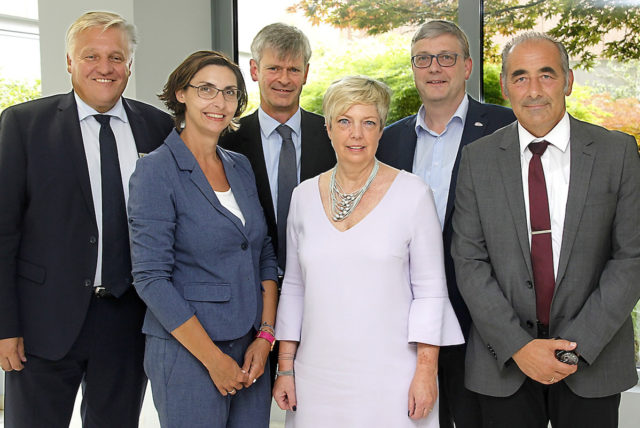
[[[462, 131], [460, 148], [458, 149], [458, 155], [451, 173], [451, 185], [449, 187], [447, 211], [445, 214], [444, 229], [442, 232], [444, 241], [444, 267], [447, 275], [449, 299], [451, 300], [453, 309], [456, 312], [456, 316], [460, 322], [460, 327], [462, 328], [462, 333], [464, 334], [465, 339], [469, 335], [471, 318], [469, 316], [469, 310], [458, 291], [453, 260], [451, 259], [451, 237], [453, 234], [451, 216], [453, 215], [454, 210], [454, 198], [458, 167], [460, 165], [460, 153], [462, 152], [462, 148], [467, 144], [480, 137], [489, 135], [497, 129], [500, 129], [516, 120], [511, 109], [493, 104], [479, 103], [469, 96], [468, 98], [469, 108], [467, 110], [467, 117]], [[385, 128], [382, 138], [380, 139], [380, 146], [378, 147], [376, 156], [381, 162], [391, 165], [394, 168], [412, 172], [417, 138], [416, 115], [414, 114]]]

